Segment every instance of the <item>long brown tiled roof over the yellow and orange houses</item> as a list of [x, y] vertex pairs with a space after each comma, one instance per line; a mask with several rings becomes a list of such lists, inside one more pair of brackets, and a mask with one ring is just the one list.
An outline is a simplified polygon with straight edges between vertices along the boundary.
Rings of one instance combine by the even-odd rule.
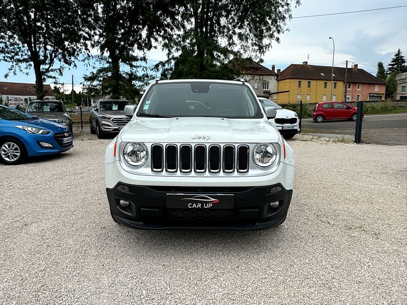
[[[345, 68], [334, 67], [333, 80], [345, 81]], [[278, 80], [284, 79], [312, 79], [331, 80], [332, 67], [291, 64], [280, 73]], [[355, 83], [386, 84], [385, 81], [371, 75], [363, 69], [347, 68], [347, 81]]]

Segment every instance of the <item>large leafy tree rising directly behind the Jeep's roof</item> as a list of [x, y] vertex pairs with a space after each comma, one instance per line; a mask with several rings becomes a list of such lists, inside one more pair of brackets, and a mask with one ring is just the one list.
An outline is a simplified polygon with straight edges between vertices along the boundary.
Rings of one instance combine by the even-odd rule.
[[[186, 0], [179, 5], [182, 31], [163, 44], [168, 60], [155, 66], [170, 71], [171, 78], [221, 78], [233, 57], [254, 58], [271, 48], [286, 30], [292, 0]], [[295, 1], [296, 6], [300, 1]]]

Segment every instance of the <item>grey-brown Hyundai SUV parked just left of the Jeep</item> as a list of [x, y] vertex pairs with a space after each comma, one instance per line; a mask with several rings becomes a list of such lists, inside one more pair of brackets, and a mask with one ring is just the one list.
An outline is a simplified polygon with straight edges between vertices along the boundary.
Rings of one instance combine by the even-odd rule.
[[130, 118], [124, 114], [124, 107], [131, 105], [126, 100], [97, 101], [89, 115], [91, 134], [103, 138], [105, 134], [118, 133], [129, 123]]

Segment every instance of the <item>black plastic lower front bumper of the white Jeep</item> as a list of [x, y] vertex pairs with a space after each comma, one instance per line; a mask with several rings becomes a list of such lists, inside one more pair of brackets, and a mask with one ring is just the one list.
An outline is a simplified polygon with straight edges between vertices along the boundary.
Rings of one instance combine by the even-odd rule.
[[[124, 190], [126, 188], [128, 191]], [[112, 189], [107, 188], [106, 192], [112, 217], [123, 225], [139, 229], [273, 227], [284, 221], [293, 193], [292, 190], [285, 190], [281, 184], [261, 187], [163, 187], [122, 182]], [[176, 193], [232, 194], [234, 208], [167, 208], [166, 195]], [[121, 199], [129, 201], [129, 206], [122, 207], [119, 203]], [[270, 202], [274, 201], [279, 201], [279, 205], [271, 208]]]

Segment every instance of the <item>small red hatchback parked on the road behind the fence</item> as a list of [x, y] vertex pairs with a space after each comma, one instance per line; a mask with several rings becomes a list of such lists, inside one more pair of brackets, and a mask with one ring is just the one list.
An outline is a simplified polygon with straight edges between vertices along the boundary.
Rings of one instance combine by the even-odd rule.
[[[316, 123], [322, 123], [324, 120], [329, 119], [357, 119], [357, 107], [350, 106], [342, 102], [322, 102], [317, 103], [312, 113], [312, 119]], [[362, 118], [365, 112], [362, 111]]]

